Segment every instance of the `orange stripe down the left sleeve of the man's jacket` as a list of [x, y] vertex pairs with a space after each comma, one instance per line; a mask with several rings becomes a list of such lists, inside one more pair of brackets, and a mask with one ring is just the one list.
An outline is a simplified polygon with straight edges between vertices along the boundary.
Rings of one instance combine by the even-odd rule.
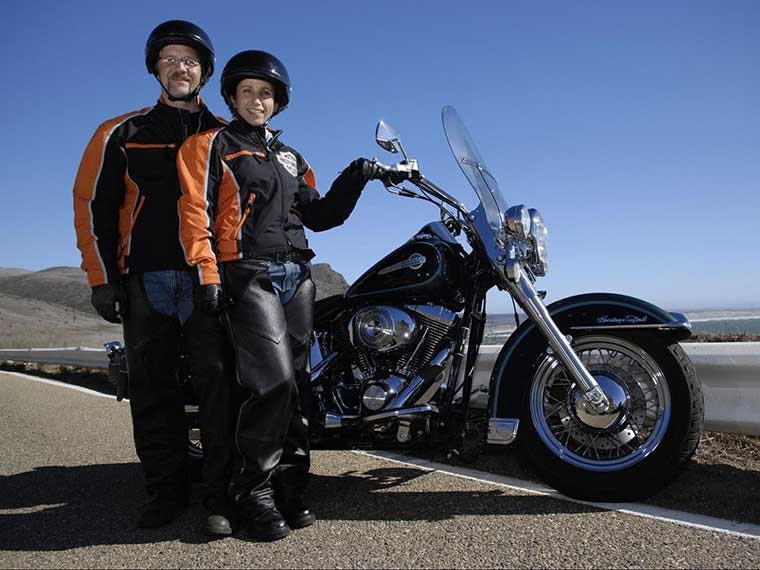
[[[74, 228], [77, 235], [77, 247], [82, 253], [82, 269], [87, 272], [87, 281], [91, 287], [103, 285], [109, 282], [108, 264], [114, 264], [116, 258], [116, 239], [118, 235], [118, 206], [113, 208], [112, 220], [98, 220], [96, 229], [95, 214], [93, 212], [93, 203], [98, 197], [101, 188], [101, 176], [105, 165], [106, 150], [114, 131], [119, 128], [125, 121], [136, 115], [145, 114], [150, 109], [142, 109], [133, 113], [122, 115], [110, 121], [106, 121], [98, 127], [95, 134], [90, 139], [82, 162], [79, 165], [77, 177], [74, 182]], [[101, 251], [101, 242], [107, 236], [104, 233], [112, 234], [110, 243], [114, 246], [114, 251], [107, 251], [110, 255], [108, 263], [103, 259]], [[106, 242], [109, 242], [106, 239]], [[110, 248], [110, 245], [108, 246]], [[112, 268], [114, 271], [116, 267]], [[112, 273], [113, 276], [113, 273]]]

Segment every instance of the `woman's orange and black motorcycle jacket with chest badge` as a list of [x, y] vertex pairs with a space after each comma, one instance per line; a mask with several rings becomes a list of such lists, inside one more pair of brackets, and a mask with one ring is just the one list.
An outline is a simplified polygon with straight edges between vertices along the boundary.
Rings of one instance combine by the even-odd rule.
[[234, 120], [182, 145], [180, 238], [201, 284], [220, 282], [221, 262], [287, 252], [310, 259], [304, 226], [339, 226], [356, 206], [361, 169], [344, 170], [322, 197], [308, 163], [280, 133]]

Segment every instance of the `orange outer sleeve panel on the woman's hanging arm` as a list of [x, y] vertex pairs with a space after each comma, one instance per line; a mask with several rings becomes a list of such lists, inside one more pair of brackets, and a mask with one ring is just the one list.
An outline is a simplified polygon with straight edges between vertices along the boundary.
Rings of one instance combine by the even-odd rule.
[[198, 266], [201, 285], [220, 282], [211, 233], [211, 210], [218, 188], [210, 175], [214, 141], [219, 130], [190, 137], [177, 155], [177, 173], [182, 189], [177, 202], [180, 244], [187, 262]]

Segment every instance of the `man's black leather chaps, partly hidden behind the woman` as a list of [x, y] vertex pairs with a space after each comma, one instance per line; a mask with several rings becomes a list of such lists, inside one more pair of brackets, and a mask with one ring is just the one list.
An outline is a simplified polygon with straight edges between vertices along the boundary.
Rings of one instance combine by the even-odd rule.
[[149, 495], [183, 500], [189, 494], [185, 396], [177, 382], [180, 338], [200, 404], [204, 500], [224, 496], [232, 468], [231, 354], [219, 319], [193, 311], [179, 320], [153, 309], [140, 275], [126, 281], [129, 314], [124, 339], [135, 448]]

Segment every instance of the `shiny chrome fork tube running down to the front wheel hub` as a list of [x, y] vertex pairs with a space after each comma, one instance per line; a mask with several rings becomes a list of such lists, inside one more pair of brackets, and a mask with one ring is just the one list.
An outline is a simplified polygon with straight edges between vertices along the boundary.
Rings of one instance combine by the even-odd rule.
[[530, 282], [525, 272], [519, 269], [519, 265], [516, 268], [509, 268], [512, 271], [514, 269], [517, 269], [519, 277], [516, 282], [512, 279], [505, 280], [509, 292], [539, 328], [571, 378], [581, 387], [583, 397], [591, 408], [589, 411], [597, 414], [609, 411], [611, 406], [609, 398], [552, 320], [549, 311], [546, 310], [538, 293], [533, 288], [533, 283]]

